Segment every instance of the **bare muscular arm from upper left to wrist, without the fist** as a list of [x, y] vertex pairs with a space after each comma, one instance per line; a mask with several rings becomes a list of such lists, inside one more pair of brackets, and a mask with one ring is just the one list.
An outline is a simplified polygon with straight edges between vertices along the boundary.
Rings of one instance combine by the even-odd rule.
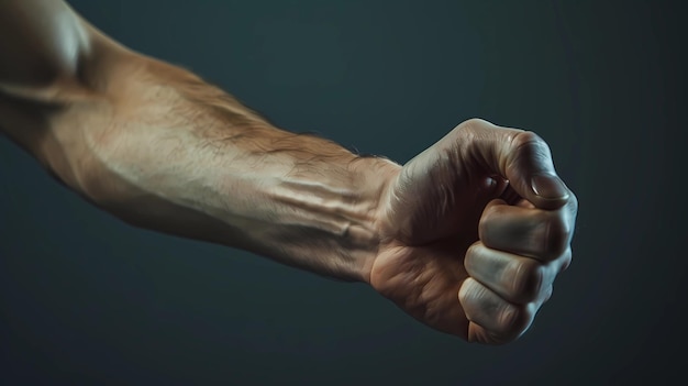
[[32, 18], [0, 32], [25, 36], [21, 51], [1, 46], [0, 126], [58, 179], [138, 227], [366, 279], [377, 200], [398, 165], [279, 130], [59, 1], [2, 4], [5, 19]]

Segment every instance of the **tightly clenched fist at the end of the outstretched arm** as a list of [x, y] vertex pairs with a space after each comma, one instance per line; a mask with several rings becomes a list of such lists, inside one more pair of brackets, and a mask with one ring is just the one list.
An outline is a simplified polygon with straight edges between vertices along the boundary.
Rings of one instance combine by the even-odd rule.
[[370, 284], [437, 330], [507, 343], [569, 265], [577, 208], [540, 136], [466, 121], [392, 179]]

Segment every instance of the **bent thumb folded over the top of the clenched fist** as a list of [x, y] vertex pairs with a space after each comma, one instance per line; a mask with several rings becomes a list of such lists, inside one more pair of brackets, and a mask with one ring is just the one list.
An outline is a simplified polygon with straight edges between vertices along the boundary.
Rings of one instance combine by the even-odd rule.
[[570, 191], [557, 176], [550, 146], [537, 134], [500, 128], [482, 120], [466, 122], [469, 137], [480, 137], [470, 147], [490, 168], [509, 180], [511, 188], [540, 209], [565, 206]]

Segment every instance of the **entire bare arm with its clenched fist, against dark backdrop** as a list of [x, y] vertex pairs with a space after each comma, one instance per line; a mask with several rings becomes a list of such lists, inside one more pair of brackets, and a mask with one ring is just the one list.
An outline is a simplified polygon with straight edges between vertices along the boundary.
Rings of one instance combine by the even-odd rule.
[[55, 0], [0, 2], [0, 130], [135, 227], [369, 284], [513, 341], [570, 264], [577, 200], [536, 134], [473, 119], [404, 165], [275, 126]]

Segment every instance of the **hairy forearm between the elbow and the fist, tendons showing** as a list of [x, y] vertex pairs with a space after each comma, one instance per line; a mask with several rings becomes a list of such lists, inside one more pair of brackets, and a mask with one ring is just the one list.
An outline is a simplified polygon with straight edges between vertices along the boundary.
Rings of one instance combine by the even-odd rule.
[[398, 165], [279, 130], [179, 68], [143, 67], [141, 99], [87, 135], [100, 165], [87, 197], [138, 227], [368, 279], [378, 200]]

